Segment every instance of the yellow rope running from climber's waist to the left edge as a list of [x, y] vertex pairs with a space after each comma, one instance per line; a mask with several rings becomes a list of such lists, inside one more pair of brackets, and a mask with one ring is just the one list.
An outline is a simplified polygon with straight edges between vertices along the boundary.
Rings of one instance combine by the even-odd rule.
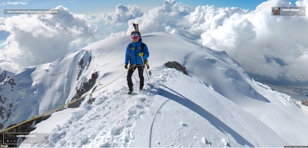
[[[133, 65], [132, 67], [130, 67], [127, 71], [129, 71], [129, 70], [130, 70], [131, 68], [133, 68], [133, 67], [134, 67], [134, 65]], [[127, 71], [126, 71], [126, 72], [127, 72]], [[126, 72], [125, 72], [125, 73], [126, 73]], [[114, 80], [111, 81], [110, 83], [106, 84], [105, 86], [101, 87], [100, 89], [93, 91], [92, 93], [89, 93], [89, 94], [87, 94], [87, 95], [85, 95], [85, 96], [83, 96], [83, 97], [80, 97], [80, 98], [78, 98], [78, 99], [76, 99], [76, 100], [73, 100], [73, 101], [67, 103], [67, 104], [64, 104], [64, 105], [62, 105], [61, 107], [55, 108], [55, 109], [53, 109], [53, 110], [50, 110], [50, 111], [48, 111], [48, 112], [46, 112], [46, 113], [44, 113], [44, 114], [42, 114], [42, 115], [38, 115], [38, 116], [33, 117], [33, 118], [31, 118], [31, 119], [28, 119], [28, 120], [25, 120], [25, 121], [23, 121], [23, 122], [20, 122], [20, 123], [18, 123], [18, 124], [16, 124], [16, 125], [13, 125], [13, 126], [11, 126], [10, 128], [7, 128], [7, 129], [4, 129], [4, 130], [0, 131], [0, 133], [6, 132], [6, 131], [11, 130], [11, 129], [14, 129], [14, 128], [16, 128], [17, 126], [20, 126], [20, 125], [22, 125], [22, 124], [24, 124], [24, 123], [27, 123], [27, 122], [29, 122], [29, 121], [35, 120], [35, 119], [37, 119], [37, 118], [40, 118], [40, 117], [42, 117], [42, 116], [44, 116], [44, 115], [46, 115], [46, 114], [49, 114], [49, 113], [51, 113], [51, 112], [53, 112], [53, 111], [56, 111], [56, 110], [61, 109], [61, 108], [65, 107], [66, 105], [69, 105], [69, 104], [72, 104], [72, 103], [74, 103], [74, 102], [76, 102], [76, 101], [79, 101], [79, 100], [85, 98], [86, 96], [89, 96], [89, 95], [91, 95], [91, 94], [93, 94], [93, 93], [95, 93], [95, 92], [97, 92], [97, 91], [99, 91], [99, 90], [105, 88], [105, 87], [108, 86], [109, 84], [113, 83], [114, 81], [116, 81], [117, 79], [119, 79], [120, 77], [122, 77], [125, 73], [123, 73], [121, 76], [119, 76], [118, 78], [114, 79]]]

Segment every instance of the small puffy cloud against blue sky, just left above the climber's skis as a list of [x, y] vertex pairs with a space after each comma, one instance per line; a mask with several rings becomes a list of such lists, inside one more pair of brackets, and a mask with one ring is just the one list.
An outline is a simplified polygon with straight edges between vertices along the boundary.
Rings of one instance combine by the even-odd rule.
[[122, 4], [117, 5], [115, 14], [105, 13], [103, 19], [106, 23], [122, 23], [127, 22], [129, 19], [140, 17], [143, 12], [140, 11], [141, 7], [138, 5], [124, 6]]

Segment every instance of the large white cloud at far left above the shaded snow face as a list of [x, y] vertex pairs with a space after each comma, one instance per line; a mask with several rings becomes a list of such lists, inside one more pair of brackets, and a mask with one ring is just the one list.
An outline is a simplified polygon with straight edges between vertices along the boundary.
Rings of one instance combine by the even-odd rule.
[[63, 57], [91, 42], [93, 31], [84, 15], [58, 6], [60, 15], [18, 15], [1, 18], [0, 31], [9, 32], [0, 53], [0, 67], [17, 72]]

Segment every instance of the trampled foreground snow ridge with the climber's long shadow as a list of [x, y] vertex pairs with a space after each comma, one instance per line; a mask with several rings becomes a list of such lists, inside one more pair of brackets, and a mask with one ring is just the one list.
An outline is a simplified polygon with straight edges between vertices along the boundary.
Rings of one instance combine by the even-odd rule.
[[[101, 93], [67, 119], [54, 113], [32, 133], [50, 133], [48, 147], [276, 147], [289, 145], [272, 129], [199, 80], [161, 72], [140, 93]], [[185, 83], [185, 85], [183, 85]], [[138, 87], [136, 87], [138, 89]], [[193, 93], [192, 93], [193, 92]], [[51, 125], [53, 124], [53, 125]], [[54, 125], [58, 124], [58, 125]], [[49, 126], [56, 126], [50, 131]], [[270, 140], [269, 140], [270, 139]], [[21, 146], [29, 146], [24, 144]]]

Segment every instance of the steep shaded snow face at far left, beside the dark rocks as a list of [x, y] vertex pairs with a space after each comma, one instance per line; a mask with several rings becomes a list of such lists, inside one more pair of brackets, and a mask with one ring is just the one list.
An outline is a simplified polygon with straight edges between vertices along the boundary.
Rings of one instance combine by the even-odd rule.
[[4, 100], [1, 108], [4, 127], [19, 123], [59, 107], [75, 97], [81, 88], [90, 55], [87, 51], [71, 54], [52, 63], [21, 69], [1, 83]]

